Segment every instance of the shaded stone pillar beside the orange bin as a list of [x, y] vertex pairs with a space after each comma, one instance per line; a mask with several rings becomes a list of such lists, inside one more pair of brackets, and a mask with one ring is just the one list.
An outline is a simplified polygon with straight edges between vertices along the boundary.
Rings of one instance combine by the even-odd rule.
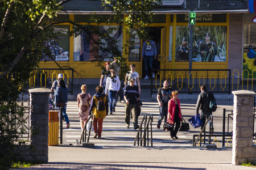
[[34, 162], [48, 162], [49, 94], [48, 88], [34, 88], [30, 92], [31, 150]]

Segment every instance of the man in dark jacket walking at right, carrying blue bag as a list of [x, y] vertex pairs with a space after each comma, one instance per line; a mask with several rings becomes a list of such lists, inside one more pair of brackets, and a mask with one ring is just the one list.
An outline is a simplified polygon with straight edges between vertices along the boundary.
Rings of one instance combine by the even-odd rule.
[[[201, 106], [202, 114], [201, 114], [201, 120], [203, 122], [203, 125], [205, 124], [206, 118], [208, 119], [209, 116], [212, 116], [212, 111], [210, 110], [210, 99], [211, 97], [214, 97], [211, 92], [208, 92], [205, 85], [202, 85], [201, 87], [201, 93], [198, 96], [197, 103], [196, 103], [196, 113], [199, 113], [199, 108]], [[213, 134], [213, 121], [211, 120], [209, 122], [210, 125], [210, 134]], [[201, 127], [201, 129], [203, 126]]]

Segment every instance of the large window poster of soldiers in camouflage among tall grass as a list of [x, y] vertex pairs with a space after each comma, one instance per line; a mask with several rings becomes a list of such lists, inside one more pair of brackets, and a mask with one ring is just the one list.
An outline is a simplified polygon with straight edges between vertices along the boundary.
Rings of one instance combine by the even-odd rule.
[[[226, 62], [227, 27], [193, 26], [193, 62]], [[188, 62], [189, 28], [176, 27], [175, 61]]]

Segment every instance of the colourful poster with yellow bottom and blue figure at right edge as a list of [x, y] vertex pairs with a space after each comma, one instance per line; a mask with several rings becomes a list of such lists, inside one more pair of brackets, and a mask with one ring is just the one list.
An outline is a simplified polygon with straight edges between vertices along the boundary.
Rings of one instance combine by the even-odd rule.
[[256, 78], [256, 24], [245, 24], [243, 32], [243, 78]]

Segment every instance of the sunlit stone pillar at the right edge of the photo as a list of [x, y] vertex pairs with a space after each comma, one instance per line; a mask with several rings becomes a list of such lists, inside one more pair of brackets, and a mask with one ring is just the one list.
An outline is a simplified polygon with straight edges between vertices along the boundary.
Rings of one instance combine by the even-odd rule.
[[255, 92], [233, 91], [233, 148], [232, 164], [241, 165], [256, 161], [256, 146], [253, 146], [253, 107]]

